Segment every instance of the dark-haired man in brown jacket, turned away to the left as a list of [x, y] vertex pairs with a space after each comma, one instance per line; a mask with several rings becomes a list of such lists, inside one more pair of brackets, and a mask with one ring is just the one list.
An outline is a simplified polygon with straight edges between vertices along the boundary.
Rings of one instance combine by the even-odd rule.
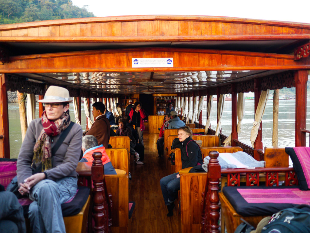
[[93, 103], [93, 116], [95, 122], [91, 125], [91, 128], [87, 131], [86, 135], [93, 135], [98, 141], [98, 145], [103, 144], [105, 148], [108, 148], [108, 142], [110, 139], [110, 122], [108, 118], [103, 114], [105, 110], [104, 103]]

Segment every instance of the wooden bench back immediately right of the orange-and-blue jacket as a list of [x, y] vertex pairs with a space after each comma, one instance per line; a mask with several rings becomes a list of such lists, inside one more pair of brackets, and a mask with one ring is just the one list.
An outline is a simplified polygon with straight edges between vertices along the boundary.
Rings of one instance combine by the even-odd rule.
[[106, 149], [108, 157], [115, 169], [126, 171], [128, 175], [128, 151], [125, 148]]

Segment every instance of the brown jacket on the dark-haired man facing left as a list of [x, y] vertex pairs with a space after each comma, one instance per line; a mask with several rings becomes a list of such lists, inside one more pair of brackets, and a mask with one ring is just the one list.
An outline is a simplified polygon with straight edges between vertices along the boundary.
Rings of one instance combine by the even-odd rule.
[[98, 145], [103, 144], [105, 148], [108, 148], [110, 139], [110, 122], [105, 115], [97, 118], [97, 120], [91, 125], [90, 130], [86, 135], [93, 135], [98, 141]]

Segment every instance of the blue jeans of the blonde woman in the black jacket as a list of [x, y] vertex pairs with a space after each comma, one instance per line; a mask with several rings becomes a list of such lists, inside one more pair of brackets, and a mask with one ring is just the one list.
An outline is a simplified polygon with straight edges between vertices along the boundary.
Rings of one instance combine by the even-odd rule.
[[165, 205], [170, 205], [178, 197], [178, 190], [180, 190], [180, 178], [176, 178], [178, 174], [179, 172], [160, 179], [160, 187]]

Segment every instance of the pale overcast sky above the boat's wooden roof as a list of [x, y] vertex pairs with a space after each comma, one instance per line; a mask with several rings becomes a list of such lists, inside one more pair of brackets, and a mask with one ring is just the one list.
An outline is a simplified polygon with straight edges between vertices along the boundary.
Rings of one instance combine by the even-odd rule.
[[72, 0], [97, 17], [203, 15], [310, 23], [309, 0]]

